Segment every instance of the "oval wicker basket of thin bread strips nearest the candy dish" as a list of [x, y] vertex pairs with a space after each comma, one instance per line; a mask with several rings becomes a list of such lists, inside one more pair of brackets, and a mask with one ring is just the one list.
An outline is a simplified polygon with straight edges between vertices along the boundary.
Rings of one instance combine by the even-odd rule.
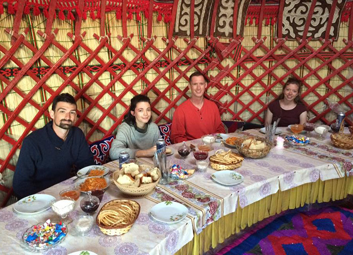
[[[140, 209], [139, 203], [133, 200], [112, 200], [100, 209], [96, 223], [103, 234], [122, 235], [131, 229], [140, 214]], [[113, 224], [114, 221], [116, 224]]]

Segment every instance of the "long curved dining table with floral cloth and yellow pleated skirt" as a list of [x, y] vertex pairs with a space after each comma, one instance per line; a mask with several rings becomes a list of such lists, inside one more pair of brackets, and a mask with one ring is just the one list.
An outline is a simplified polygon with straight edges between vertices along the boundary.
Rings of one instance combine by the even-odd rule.
[[[279, 136], [291, 132], [281, 127]], [[312, 132], [313, 133], [313, 132]], [[328, 133], [324, 140], [312, 133], [306, 134], [311, 142], [304, 147], [285, 144], [283, 149], [272, 148], [261, 159], [245, 158], [242, 166], [235, 169], [244, 176], [244, 181], [233, 186], [216, 183], [211, 175], [216, 171], [210, 166], [205, 172], [195, 171], [188, 179], [170, 179], [168, 184], [158, 184], [154, 192], [144, 198], [130, 198], [141, 206], [140, 215], [131, 230], [120, 236], [103, 234], [96, 224], [85, 236], [68, 225], [68, 234], [55, 247], [42, 251], [42, 254], [65, 255], [79, 250], [89, 250], [97, 254], [202, 254], [222, 243], [231, 234], [240, 232], [265, 218], [288, 209], [302, 207], [315, 202], [342, 200], [353, 194], [353, 150], [342, 150], [332, 146]], [[259, 130], [226, 134], [229, 137], [264, 137]], [[197, 146], [201, 139], [188, 141], [187, 145]], [[167, 165], [179, 164], [185, 168], [196, 168], [196, 160], [191, 153], [187, 158], [178, 154], [181, 144], [170, 145], [172, 155], [167, 156]], [[214, 143], [209, 156], [218, 149], [236, 149]], [[151, 158], [138, 158], [138, 164], [153, 167]], [[119, 168], [117, 161], [105, 164], [110, 171]], [[74, 177], [73, 177], [74, 178]], [[73, 178], [49, 187], [39, 194], [58, 198], [62, 189], [75, 185]], [[69, 217], [73, 220], [83, 215], [79, 207]], [[112, 182], [106, 189], [97, 210], [105, 203], [126, 198]], [[161, 202], [174, 201], [188, 208], [188, 215], [180, 222], [167, 224], [153, 219], [149, 212]], [[48, 210], [23, 215], [15, 213], [14, 205], [0, 210], [1, 253], [38, 254], [28, 250], [22, 235], [30, 226], [55, 217]], [[94, 217], [97, 215], [94, 214]]]

